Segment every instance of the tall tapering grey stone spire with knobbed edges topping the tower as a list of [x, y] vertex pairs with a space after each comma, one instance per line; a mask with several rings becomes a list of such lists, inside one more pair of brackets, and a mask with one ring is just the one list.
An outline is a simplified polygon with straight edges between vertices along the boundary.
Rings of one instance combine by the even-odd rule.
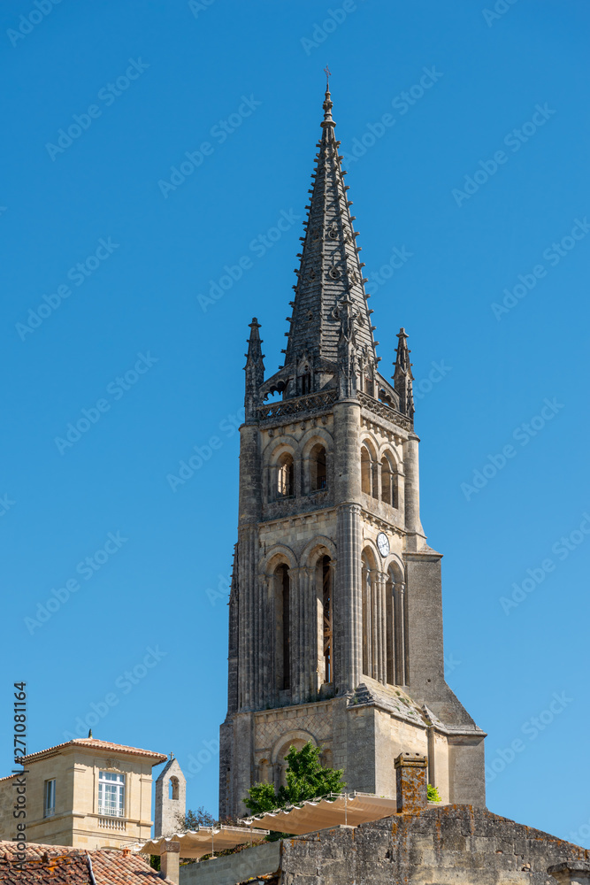
[[[350, 215], [351, 202], [347, 199], [348, 186], [344, 184], [346, 172], [341, 169], [341, 157], [334, 136], [332, 98], [326, 89], [322, 136], [318, 142], [316, 167], [311, 178], [310, 203], [304, 222], [306, 228], [299, 269], [295, 270], [298, 281], [294, 286], [295, 301], [291, 302], [293, 314], [289, 317], [290, 329], [285, 366], [291, 366], [306, 354], [318, 369], [324, 360], [338, 361], [341, 322], [338, 304], [348, 298], [356, 314], [356, 349], [364, 354], [365, 361], [376, 363], [375, 342], [372, 336], [370, 312], [364, 294], [363, 264], [359, 261], [356, 246], [357, 233]], [[326, 364], [324, 364], [326, 365]]]

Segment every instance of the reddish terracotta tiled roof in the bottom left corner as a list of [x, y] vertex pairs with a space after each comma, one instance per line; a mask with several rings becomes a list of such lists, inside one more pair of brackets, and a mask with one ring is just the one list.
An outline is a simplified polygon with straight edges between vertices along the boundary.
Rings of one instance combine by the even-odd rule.
[[88, 855], [96, 885], [155, 885], [168, 882], [137, 854], [122, 851], [88, 851], [61, 845], [29, 845], [22, 870], [17, 866], [14, 843], [0, 842], [2, 885], [90, 885]]

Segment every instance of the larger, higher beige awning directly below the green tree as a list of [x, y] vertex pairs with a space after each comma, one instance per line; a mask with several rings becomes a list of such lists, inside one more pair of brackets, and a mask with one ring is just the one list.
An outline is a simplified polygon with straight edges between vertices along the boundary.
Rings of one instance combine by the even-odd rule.
[[242, 822], [249, 827], [303, 835], [339, 824], [356, 827], [370, 820], [387, 818], [396, 812], [396, 799], [371, 793], [333, 793], [323, 799], [310, 799], [301, 805], [244, 818]]

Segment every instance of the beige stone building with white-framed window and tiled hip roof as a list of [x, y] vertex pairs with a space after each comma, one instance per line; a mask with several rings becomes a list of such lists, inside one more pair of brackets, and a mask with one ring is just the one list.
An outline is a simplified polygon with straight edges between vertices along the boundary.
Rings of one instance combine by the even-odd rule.
[[[152, 768], [161, 753], [80, 738], [23, 759], [27, 842], [123, 848], [151, 834]], [[0, 838], [11, 839], [14, 774], [0, 781]]]

